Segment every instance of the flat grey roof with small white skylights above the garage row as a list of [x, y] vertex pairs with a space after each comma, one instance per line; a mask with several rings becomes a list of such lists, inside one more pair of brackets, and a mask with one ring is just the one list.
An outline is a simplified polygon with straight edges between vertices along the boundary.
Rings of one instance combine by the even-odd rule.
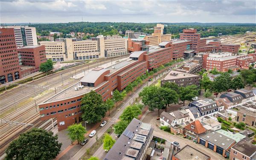
[[216, 131], [209, 131], [200, 134], [199, 137], [224, 149], [227, 149], [232, 143], [236, 142], [235, 140], [224, 136], [223, 134], [220, 134]]

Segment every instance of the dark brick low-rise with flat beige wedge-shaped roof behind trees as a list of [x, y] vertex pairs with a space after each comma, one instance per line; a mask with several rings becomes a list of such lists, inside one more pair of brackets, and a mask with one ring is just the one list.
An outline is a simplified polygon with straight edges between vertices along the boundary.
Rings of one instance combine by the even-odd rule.
[[180, 87], [185, 87], [187, 85], [199, 85], [201, 76], [194, 75], [190, 73], [180, 72], [177, 70], [171, 70], [164, 78], [161, 80], [161, 86], [166, 82], [174, 82]]

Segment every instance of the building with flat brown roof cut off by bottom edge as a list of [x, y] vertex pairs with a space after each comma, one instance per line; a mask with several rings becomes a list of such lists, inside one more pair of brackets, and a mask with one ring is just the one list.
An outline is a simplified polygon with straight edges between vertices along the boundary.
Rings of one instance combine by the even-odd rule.
[[204, 154], [198, 149], [186, 145], [181, 148], [177, 153], [172, 155], [172, 160], [210, 160], [211, 157], [209, 155]]

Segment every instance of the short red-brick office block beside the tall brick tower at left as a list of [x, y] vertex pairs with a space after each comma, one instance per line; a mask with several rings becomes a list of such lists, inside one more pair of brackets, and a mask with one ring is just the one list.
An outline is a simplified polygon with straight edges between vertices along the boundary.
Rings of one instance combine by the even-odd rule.
[[[21, 58], [20, 72], [33, 73], [39, 71], [40, 64], [47, 61], [44, 46], [26, 46], [17, 49], [18, 54]], [[23, 70], [23, 65], [27, 67]]]

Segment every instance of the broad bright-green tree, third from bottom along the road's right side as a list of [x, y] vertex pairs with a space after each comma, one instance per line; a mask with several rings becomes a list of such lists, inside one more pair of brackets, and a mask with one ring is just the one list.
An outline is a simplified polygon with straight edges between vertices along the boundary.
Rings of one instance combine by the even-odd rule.
[[124, 109], [119, 118], [130, 123], [132, 119], [137, 118], [140, 114], [140, 108], [137, 105], [131, 105]]

